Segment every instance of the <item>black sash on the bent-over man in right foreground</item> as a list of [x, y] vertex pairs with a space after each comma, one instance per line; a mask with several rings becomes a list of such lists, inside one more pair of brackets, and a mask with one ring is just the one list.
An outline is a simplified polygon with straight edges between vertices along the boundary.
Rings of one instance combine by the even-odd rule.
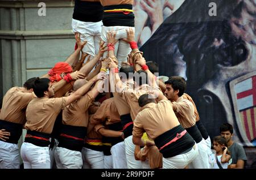
[[[177, 134], [180, 134], [182, 131], [184, 131], [184, 128], [179, 125], [159, 135], [154, 140], [156, 147], [160, 149], [163, 147], [163, 145], [170, 142], [176, 137]], [[176, 142], [167, 145], [159, 152], [162, 153], [164, 158], [174, 157], [180, 155], [184, 151], [187, 151], [187, 149], [191, 149], [193, 145], [195, 145], [193, 138], [188, 133], [185, 133], [180, 139], [176, 140]]]

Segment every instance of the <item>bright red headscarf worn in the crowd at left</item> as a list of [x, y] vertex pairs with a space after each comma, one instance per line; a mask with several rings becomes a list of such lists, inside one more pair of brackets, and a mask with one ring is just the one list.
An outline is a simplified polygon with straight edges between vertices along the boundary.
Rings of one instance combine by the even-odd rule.
[[51, 80], [51, 83], [59, 82], [62, 79], [60, 74], [63, 72], [68, 74], [73, 72], [73, 69], [68, 63], [57, 62], [55, 66], [48, 72], [48, 74], [51, 76], [49, 78]]

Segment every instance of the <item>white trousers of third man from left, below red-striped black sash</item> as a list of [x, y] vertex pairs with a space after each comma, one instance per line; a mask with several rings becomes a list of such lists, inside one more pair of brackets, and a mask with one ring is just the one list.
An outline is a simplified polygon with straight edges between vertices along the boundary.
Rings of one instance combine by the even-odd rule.
[[63, 147], [56, 147], [55, 161], [57, 169], [82, 169], [82, 153]]

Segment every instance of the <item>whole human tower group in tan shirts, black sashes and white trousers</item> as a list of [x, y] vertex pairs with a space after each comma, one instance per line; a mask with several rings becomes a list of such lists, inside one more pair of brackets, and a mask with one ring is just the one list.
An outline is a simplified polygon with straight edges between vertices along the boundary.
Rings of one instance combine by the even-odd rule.
[[[100, 15], [80, 19], [80, 7], [99, 2], [103, 41], [96, 50], [80, 30]], [[132, 4], [76, 1], [75, 52], [3, 97], [0, 168], [19, 168], [23, 128], [26, 169], [52, 168], [53, 162], [76, 169], [209, 168], [210, 138], [184, 93], [185, 80], [172, 76], [163, 82], [153, 74], [157, 65], [146, 63], [135, 42]]]

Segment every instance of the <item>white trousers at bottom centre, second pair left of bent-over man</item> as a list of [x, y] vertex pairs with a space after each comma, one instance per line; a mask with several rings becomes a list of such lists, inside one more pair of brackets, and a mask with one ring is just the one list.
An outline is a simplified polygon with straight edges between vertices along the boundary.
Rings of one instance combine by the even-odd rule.
[[125, 143], [120, 142], [113, 145], [110, 149], [113, 159], [114, 169], [127, 169], [126, 155], [125, 155]]

